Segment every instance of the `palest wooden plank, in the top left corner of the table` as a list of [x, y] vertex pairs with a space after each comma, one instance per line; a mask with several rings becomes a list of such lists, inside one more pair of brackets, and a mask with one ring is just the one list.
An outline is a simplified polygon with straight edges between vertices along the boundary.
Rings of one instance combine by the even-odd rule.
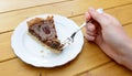
[[0, 0], [0, 12], [7, 12], [18, 9], [31, 8], [35, 6], [44, 6], [68, 0]]

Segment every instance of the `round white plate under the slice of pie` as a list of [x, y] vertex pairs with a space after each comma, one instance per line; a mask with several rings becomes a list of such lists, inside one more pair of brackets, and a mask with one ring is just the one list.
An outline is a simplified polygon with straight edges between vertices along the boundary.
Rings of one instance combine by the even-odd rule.
[[[46, 18], [51, 14], [36, 15], [37, 18]], [[78, 29], [78, 25], [72, 20], [57, 15], [54, 15], [55, 28], [58, 39], [63, 41], [69, 36], [74, 31]], [[36, 18], [33, 17], [33, 18]], [[79, 31], [75, 36], [75, 42], [66, 47], [61, 54], [55, 54], [28, 35], [26, 22], [33, 18], [26, 19], [18, 25], [11, 37], [11, 46], [23, 62], [36, 67], [55, 67], [64, 65], [74, 59], [80, 52], [84, 44], [84, 35]]]

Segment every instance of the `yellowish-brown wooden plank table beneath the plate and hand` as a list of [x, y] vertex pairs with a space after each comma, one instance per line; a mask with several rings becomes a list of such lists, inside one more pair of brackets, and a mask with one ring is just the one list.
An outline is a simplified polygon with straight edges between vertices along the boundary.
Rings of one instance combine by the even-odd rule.
[[55, 68], [37, 68], [14, 55], [11, 35], [21, 21], [37, 14], [56, 13], [80, 25], [88, 7], [103, 8], [118, 18], [132, 36], [132, 0], [0, 0], [0, 76], [132, 76], [131, 70], [114, 63], [86, 39], [77, 58]]

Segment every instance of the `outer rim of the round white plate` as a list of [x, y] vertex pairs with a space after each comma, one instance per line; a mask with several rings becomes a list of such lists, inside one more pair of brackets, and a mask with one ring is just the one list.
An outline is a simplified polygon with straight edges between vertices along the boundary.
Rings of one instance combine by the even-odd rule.
[[[29, 62], [25, 62], [25, 59], [24, 58], [22, 58], [22, 57], [20, 57], [20, 55], [16, 53], [16, 51], [15, 51], [15, 48], [14, 48], [14, 44], [13, 44], [13, 37], [14, 37], [14, 34], [15, 34], [15, 30], [19, 28], [19, 25], [21, 25], [23, 22], [25, 22], [25, 21], [29, 21], [29, 20], [31, 20], [31, 19], [34, 19], [34, 18], [36, 18], [36, 17], [41, 17], [41, 15], [45, 15], [45, 17], [47, 17], [47, 15], [54, 15], [54, 17], [63, 17], [63, 15], [59, 15], [59, 14], [40, 14], [40, 15], [34, 15], [34, 17], [31, 17], [31, 18], [29, 18], [29, 19], [25, 19], [24, 21], [22, 21], [22, 22], [20, 22], [19, 24], [18, 24], [18, 26], [14, 29], [14, 31], [13, 31], [13, 34], [11, 35], [11, 47], [13, 48], [13, 53], [22, 61], [22, 62], [24, 62], [24, 63], [26, 63], [26, 64], [30, 64], [30, 65], [33, 65], [33, 66], [35, 66], [35, 67], [56, 67], [56, 66], [62, 66], [62, 65], [65, 65], [65, 64], [67, 64], [68, 62], [72, 62], [73, 59], [75, 59], [79, 54], [80, 54], [80, 52], [82, 51], [82, 45], [84, 45], [84, 34], [82, 34], [82, 32], [80, 31], [80, 33], [81, 33], [81, 35], [82, 35], [82, 44], [81, 44], [81, 48], [80, 48], [80, 51], [78, 51], [78, 53], [76, 54], [76, 55], [74, 55], [69, 61], [67, 61], [67, 62], [65, 62], [65, 63], [63, 63], [63, 64], [56, 64], [56, 65], [50, 65], [50, 66], [44, 66], [44, 65], [34, 65], [34, 64], [32, 64], [32, 63], [29, 63]], [[69, 20], [70, 22], [73, 22], [73, 23], [75, 23], [73, 20], [70, 20], [70, 19], [68, 19], [68, 18], [66, 18], [66, 17], [63, 17], [63, 18], [65, 18], [65, 19], [67, 19], [67, 20]], [[75, 23], [76, 24], [76, 23]], [[77, 24], [76, 24], [77, 25]], [[78, 25], [77, 25], [78, 26]], [[79, 26], [78, 26], [79, 28]]]

